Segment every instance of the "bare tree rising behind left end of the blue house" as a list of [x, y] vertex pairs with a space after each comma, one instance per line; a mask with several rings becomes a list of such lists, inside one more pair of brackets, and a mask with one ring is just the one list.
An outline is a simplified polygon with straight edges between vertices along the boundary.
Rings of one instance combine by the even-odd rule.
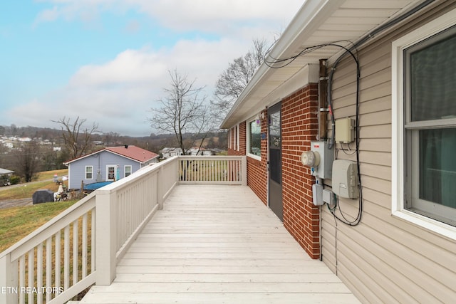
[[87, 120], [79, 116], [73, 122], [65, 116], [52, 121], [61, 125], [63, 144], [73, 159], [90, 152], [92, 134], [98, 131], [98, 124], [93, 123], [90, 128], [84, 127]]

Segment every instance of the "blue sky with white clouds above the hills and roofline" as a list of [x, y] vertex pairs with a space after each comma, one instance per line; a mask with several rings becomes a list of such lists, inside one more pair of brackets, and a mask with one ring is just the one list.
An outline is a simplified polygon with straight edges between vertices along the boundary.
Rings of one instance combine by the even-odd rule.
[[170, 70], [204, 86], [253, 39], [278, 38], [303, 0], [7, 0], [0, 4], [0, 125], [63, 117], [148, 136]]

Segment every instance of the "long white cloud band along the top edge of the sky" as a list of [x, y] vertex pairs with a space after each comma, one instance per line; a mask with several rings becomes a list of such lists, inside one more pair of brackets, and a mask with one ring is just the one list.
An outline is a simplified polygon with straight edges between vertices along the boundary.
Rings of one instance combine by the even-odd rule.
[[[302, 0], [43, 0], [53, 9], [41, 11], [36, 23], [66, 20], [93, 21], [101, 11], [123, 14], [133, 9], [176, 31], [236, 34], [240, 26], [284, 28]], [[256, 25], [253, 25], [253, 24]]]

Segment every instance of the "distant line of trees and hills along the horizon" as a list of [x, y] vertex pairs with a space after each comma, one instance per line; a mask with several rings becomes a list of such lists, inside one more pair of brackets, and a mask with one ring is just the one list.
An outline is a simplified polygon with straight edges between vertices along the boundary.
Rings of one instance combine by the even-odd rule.
[[[177, 147], [173, 134], [151, 134], [147, 137], [122, 136], [115, 132], [93, 132], [96, 128], [86, 128], [86, 120], [76, 117], [71, 120], [63, 117], [58, 120], [61, 130], [41, 127], [0, 126], [1, 137], [29, 137], [30, 142], [14, 141], [13, 149], [0, 143], [0, 168], [14, 171], [23, 182], [31, 182], [36, 173], [54, 169], [65, 169], [63, 162], [84, 154], [100, 150], [103, 147], [135, 145], [145, 150], [159, 153], [164, 147]], [[62, 125], [62, 122], [66, 125]], [[82, 124], [81, 124], [82, 122]], [[67, 128], [68, 127], [68, 128]], [[78, 134], [75, 133], [78, 129]], [[185, 142], [202, 142], [202, 138], [192, 133], [183, 133]], [[41, 145], [48, 140], [49, 145]], [[72, 149], [75, 147], [76, 149]], [[103, 143], [96, 145], [95, 143]], [[204, 147], [226, 149], [226, 132], [210, 132], [204, 141]], [[54, 150], [54, 147], [60, 149]]]

